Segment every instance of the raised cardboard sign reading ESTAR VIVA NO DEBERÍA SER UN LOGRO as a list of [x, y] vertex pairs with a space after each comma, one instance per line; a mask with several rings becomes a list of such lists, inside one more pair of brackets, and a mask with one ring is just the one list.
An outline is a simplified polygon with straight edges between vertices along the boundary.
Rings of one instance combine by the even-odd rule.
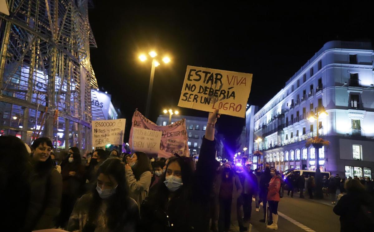
[[245, 117], [252, 74], [187, 66], [178, 106]]

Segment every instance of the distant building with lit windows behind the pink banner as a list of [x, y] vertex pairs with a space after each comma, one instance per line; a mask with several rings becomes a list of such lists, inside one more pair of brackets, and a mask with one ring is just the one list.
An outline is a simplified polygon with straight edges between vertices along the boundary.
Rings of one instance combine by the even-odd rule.
[[[205, 135], [207, 117], [194, 117], [184, 115], [173, 115], [171, 123], [186, 119], [186, 129], [188, 136], [188, 148], [190, 150], [190, 156], [196, 156], [200, 154], [200, 147]], [[157, 125], [166, 126], [169, 124], [169, 115], [159, 115], [157, 118]]]

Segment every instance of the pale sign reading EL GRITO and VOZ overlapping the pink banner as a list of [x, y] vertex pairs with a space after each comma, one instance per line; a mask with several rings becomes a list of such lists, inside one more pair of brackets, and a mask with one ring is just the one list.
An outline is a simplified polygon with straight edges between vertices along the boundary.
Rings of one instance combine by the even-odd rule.
[[131, 148], [135, 152], [157, 154], [160, 151], [161, 137], [162, 131], [133, 128]]

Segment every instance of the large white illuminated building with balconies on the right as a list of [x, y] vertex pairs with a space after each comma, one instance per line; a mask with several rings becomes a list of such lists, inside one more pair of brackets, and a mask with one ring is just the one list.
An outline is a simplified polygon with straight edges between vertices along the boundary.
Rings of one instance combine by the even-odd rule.
[[[254, 164], [269, 162], [281, 170], [321, 169], [341, 176], [370, 176], [374, 168], [374, 81], [371, 43], [330, 41], [254, 115]], [[310, 122], [311, 113], [328, 115]], [[306, 140], [330, 142], [315, 157]]]

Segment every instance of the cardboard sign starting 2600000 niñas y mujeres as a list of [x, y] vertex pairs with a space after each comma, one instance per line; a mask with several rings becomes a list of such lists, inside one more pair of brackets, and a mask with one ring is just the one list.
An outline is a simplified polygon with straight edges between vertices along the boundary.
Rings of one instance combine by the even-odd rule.
[[92, 121], [92, 146], [122, 145], [126, 119]]

